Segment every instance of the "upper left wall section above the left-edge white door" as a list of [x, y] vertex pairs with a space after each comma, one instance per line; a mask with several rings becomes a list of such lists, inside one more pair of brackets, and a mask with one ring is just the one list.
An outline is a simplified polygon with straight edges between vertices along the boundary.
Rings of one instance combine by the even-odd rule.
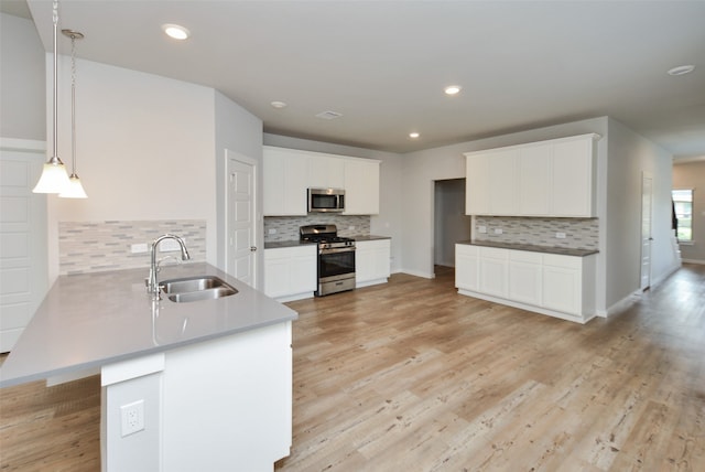
[[46, 139], [45, 84], [44, 47], [34, 23], [0, 13], [1, 137]]

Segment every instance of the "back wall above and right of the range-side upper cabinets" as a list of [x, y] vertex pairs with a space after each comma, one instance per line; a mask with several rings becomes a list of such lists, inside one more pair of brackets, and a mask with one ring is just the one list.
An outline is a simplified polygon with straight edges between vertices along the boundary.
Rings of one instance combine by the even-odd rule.
[[400, 154], [270, 133], [264, 133], [264, 144], [382, 161], [380, 165], [380, 213], [370, 218], [370, 233], [392, 238], [391, 271], [401, 271], [401, 250], [404, 244], [401, 208], [404, 194], [402, 193], [403, 158]]

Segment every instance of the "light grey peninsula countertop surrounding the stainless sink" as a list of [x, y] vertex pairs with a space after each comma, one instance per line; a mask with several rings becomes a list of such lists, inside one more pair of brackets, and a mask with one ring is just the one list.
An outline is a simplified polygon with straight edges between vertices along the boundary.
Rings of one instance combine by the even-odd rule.
[[0, 367], [0, 387], [295, 320], [295, 311], [208, 264], [166, 266], [160, 281], [213, 275], [238, 290], [217, 300], [152, 302], [149, 268], [61, 276]]

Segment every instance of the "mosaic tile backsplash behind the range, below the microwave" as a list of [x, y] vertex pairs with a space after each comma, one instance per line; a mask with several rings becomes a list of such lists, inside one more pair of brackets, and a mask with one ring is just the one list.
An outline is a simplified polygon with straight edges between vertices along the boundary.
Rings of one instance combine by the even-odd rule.
[[[268, 216], [264, 218], [264, 243], [276, 243], [283, 240], [297, 240], [299, 228], [305, 225], [336, 225], [338, 236], [369, 236], [369, 216], [346, 216], [346, 215], [321, 215], [308, 216]], [[352, 229], [350, 229], [352, 228]], [[270, 234], [274, 229], [274, 234]]]

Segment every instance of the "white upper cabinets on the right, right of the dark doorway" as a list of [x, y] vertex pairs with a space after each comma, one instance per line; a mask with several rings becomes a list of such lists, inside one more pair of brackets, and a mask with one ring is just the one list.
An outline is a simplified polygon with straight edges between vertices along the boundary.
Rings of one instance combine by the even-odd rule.
[[596, 216], [598, 135], [467, 152], [466, 213]]

